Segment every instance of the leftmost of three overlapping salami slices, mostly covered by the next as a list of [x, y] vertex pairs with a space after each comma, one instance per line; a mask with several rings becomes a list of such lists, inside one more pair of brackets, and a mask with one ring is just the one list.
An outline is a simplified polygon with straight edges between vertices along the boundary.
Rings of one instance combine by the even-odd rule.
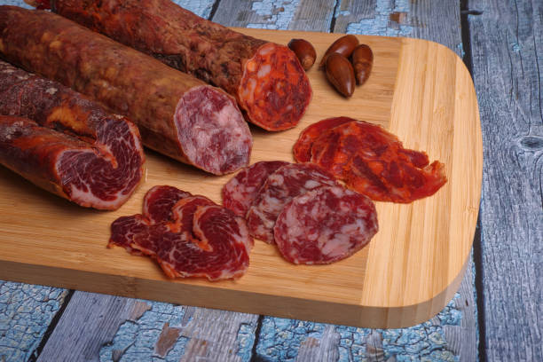
[[231, 209], [236, 215], [245, 217], [268, 176], [279, 167], [287, 164], [286, 161], [260, 161], [248, 168], [241, 169], [223, 186], [224, 208]]

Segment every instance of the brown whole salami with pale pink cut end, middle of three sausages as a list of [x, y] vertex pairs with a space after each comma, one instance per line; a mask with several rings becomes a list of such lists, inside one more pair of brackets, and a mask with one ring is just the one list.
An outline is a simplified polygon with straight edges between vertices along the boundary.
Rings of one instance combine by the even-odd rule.
[[137, 123], [144, 144], [216, 175], [247, 166], [235, 100], [191, 75], [51, 12], [0, 6], [0, 56]]

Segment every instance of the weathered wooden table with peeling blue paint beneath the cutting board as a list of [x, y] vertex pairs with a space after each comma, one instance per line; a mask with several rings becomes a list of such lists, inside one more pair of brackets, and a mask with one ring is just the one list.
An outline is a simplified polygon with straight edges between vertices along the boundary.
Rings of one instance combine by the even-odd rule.
[[460, 290], [435, 318], [387, 330], [0, 281], [0, 360], [543, 360], [543, 2], [177, 3], [226, 26], [410, 36], [464, 59], [484, 178]]

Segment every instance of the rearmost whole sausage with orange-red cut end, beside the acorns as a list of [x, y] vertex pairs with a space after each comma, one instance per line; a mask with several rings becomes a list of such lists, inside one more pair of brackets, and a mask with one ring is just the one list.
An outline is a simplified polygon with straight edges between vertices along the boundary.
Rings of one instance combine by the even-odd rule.
[[51, 9], [221, 87], [264, 130], [294, 127], [311, 100], [303, 67], [286, 46], [224, 28], [169, 0], [54, 0]]

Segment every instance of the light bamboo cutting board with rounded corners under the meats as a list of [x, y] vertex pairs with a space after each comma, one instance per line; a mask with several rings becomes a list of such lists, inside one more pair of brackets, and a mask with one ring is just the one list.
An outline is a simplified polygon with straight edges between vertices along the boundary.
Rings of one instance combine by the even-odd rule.
[[[238, 29], [286, 44], [309, 40], [318, 61], [338, 34]], [[251, 128], [251, 163], [293, 161], [301, 130], [333, 116], [381, 124], [407, 148], [445, 163], [447, 184], [400, 205], [377, 202], [380, 231], [355, 256], [331, 265], [288, 264], [256, 240], [248, 273], [235, 281], [166, 279], [151, 259], [107, 249], [109, 225], [141, 212], [153, 185], [174, 185], [219, 202], [230, 177], [215, 177], [147, 152], [146, 182], [121, 209], [83, 209], [0, 168], [0, 279], [67, 287], [357, 327], [406, 327], [441, 311], [460, 285], [476, 227], [483, 151], [471, 77], [453, 51], [422, 40], [358, 35], [374, 69], [342, 98], [317, 66], [311, 105], [293, 130]]]

